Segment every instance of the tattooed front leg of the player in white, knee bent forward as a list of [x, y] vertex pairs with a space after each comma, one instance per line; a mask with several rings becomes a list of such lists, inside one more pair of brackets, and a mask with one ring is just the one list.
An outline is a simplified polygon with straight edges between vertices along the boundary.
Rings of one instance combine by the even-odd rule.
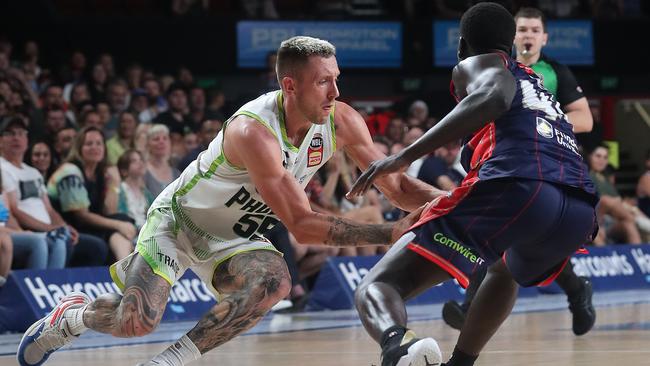
[[237, 254], [214, 272], [212, 284], [226, 295], [187, 333], [201, 354], [246, 331], [291, 289], [287, 265], [267, 250]]

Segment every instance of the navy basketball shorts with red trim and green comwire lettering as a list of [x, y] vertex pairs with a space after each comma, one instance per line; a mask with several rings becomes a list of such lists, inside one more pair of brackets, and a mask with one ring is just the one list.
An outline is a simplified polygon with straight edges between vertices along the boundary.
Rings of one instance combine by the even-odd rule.
[[467, 287], [482, 265], [504, 259], [521, 286], [549, 284], [598, 227], [582, 191], [520, 178], [476, 181], [433, 201], [407, 248]]

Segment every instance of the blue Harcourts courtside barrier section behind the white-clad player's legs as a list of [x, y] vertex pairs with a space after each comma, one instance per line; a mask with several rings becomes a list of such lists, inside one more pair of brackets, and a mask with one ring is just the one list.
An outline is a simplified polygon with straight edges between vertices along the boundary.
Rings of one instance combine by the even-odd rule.
[[[72, 291], [92, 299], [121, 294], [104, 267], [12, 271], [0, 288], [0, 332], [26, 330]], [[215, 303], [210, 290], [187, 271], [171, 289], [163, 321], [198, 320]]]

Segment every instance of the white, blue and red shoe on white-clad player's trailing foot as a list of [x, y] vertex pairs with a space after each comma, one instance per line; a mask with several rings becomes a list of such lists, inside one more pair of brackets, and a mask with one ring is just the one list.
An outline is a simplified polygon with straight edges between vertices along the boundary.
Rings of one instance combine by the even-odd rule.
[[54, 351], [78, 338], [70, 333], [63, 313], [90, 303], [81, 292], [71, 292], [44, 318], [32, 324], [23, 335], [16, 358], [21, 366], [42, 365]]

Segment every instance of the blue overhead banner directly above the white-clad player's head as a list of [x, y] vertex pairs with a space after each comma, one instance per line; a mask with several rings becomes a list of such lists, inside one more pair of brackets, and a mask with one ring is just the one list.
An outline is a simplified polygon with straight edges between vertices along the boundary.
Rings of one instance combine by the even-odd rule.
[[290, 37], [305, 35], [330, 41], [341, 67], [400, 67], [402, 25], [398, 22], [237, 23], [237, 66], [266, 67], [266, 56]]

